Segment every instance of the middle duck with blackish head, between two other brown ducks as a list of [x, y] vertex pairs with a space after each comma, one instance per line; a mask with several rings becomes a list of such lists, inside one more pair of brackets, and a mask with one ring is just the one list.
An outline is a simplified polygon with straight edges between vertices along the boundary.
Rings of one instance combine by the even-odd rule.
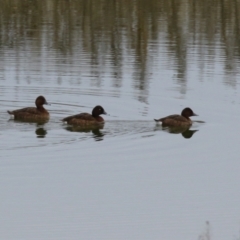
[[97, 105], [93, 108], [92, 114], [90, 113], [80, 113], [77, 115], [69, 116], [63, 118], [62, 121], [70, 125], [78, 126], [96, 126], [104, 124], [104, 119], [100, 116], [101, 114], [107, 114], [104, 108]]

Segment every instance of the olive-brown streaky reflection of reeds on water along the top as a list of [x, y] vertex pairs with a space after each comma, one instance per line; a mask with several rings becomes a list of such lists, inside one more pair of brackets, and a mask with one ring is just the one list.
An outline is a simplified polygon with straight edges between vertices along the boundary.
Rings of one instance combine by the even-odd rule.
[[[234, 0], [0, 0], [0, 4], [0, 51], [19, 52], [29, 46], [41, 54], [44, 47], [71, 62], [81, 48], [92, 66], [104, 65], [104, 56], [109, 56], [115, 87], [121, 87], [126, 50], [134, 60], [134, 87], [147, 90], [151, 57], [163, 41], [183, 85], [192, 50], [200, 59], [207, 55], [207, 66], [200, 61], [199, 68], [214, 64], [219, 46], [224, 49], [226, 73], [236, 72], [239, 61], [240, 3]], [[92, 68], [96, 76], [99, 71]], [[138, 99], [147, 101], [144, 95]]]

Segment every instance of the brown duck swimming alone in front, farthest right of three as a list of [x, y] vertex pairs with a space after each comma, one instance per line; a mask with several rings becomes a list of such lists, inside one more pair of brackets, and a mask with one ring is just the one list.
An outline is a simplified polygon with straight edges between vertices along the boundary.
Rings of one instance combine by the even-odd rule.
[[192, 125], [190, 117], [198, 116], [189, 107], [182, 110], [181, 115], [174, 114], [164, 118], [154, 119], [157, 124], [161, 124], [163, 127], [186, 127]]

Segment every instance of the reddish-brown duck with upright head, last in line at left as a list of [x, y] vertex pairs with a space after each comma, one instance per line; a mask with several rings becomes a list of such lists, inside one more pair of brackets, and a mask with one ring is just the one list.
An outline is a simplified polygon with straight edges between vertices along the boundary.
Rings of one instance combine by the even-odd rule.
[[44, 96], [38, 96], [35, 100], [36, 107], [26, 107], [13, 111], [7, 111], [13, 119], [19, 120], [48, 120], [49, 112], [43, 105], [50, 105]]

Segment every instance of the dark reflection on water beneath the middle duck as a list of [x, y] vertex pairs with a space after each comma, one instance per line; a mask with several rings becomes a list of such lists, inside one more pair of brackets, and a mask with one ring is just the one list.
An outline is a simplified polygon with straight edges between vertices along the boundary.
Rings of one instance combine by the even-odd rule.
[[67, 126], [65, 129], [69, 132], [80, 132], [80, 133], [92, 133], [92, 137], [95, 141], [102, 141], [104, 137], [104, 133], [101, 131], [104, 128], [104, 125], [101, 126]]

